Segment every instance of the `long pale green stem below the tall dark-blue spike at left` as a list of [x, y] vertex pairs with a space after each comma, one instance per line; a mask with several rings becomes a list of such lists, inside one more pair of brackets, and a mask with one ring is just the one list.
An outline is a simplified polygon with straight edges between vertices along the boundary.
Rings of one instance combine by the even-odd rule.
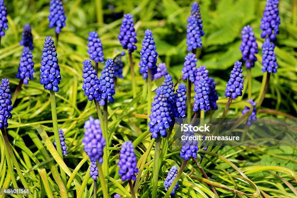
[[[61, 147], [59, 128], [58, 128], [55, 92], [50, 90], [49, 95], [50, 95], [51, 117], [52, 117], [53, 131], [54, 131], [54, 136], [55, 136], [55, 141], [56, 141], [56, 148], [57, 148], [57, 151], [58, 151], [60, 157], [63, 160], [62, 147]], [[61, 170], [62, 180], [63, 180], [64, 184], [66, 184], [66, 173], [63, 171], [62, 167], [60, 167], [60, 170]]]

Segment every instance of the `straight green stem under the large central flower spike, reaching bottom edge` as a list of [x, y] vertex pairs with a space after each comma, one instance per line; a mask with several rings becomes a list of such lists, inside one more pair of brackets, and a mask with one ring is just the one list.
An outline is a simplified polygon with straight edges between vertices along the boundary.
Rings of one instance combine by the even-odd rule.
[[155, 157], [154, 157], [154, 167], [153, 167], [153, 190], [152, 198], [157, 197], [157, 187], [158, 187], [158, 175], [159, 175], [159, 159], [160, 159], [160, 147], [161, 147], [161, 136], [159, 135], [156, 139], [155, 145]]

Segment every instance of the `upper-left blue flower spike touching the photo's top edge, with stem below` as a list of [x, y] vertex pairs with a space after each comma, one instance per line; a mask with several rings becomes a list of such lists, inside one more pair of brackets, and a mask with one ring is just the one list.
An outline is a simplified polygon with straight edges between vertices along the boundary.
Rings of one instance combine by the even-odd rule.
[[62, 0], [51, 0], [49, 4], [49, 28], [55, 27], [55, 32], [60, 33], [66, 26]]

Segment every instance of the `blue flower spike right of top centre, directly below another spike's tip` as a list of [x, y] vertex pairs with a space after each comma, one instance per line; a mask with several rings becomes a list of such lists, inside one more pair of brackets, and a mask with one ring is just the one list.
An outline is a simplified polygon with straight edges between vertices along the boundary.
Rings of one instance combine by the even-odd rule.
[[201, 48], [201, 31], [197, 19], [191, 15], [188, 17], [187, 22], [187, 50], [192, 51], [193, 49]]

